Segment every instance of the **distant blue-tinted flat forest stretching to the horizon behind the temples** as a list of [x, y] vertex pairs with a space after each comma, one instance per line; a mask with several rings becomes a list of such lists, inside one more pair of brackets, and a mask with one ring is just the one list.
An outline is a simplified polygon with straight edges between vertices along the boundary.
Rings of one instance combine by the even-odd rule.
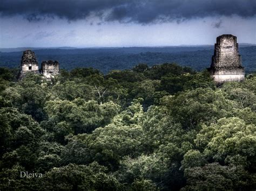
[[[4, 49], [6, 51], [6, 48], [0, 48], [0, 51], [4, 51]], [[19, 67], [23, 49], [13, 49], [18, 52], [0, 52], [0, 67]], [[92, 67], [103, 73], [108, 73], [111, 70], [131, 69], [138, 63], [147, 63], [147, 65], [153, 66], [165, 62], [175, 62], [200, 71], [210, 67], [213, 55], [213, 46], [211, 45], [31, 49], [35, 51], [39, 65], [43, 60], [57, 60], [60, 63], [60, 68], [67, 70]], [[239, 44], [239, 53], [246, 73], [256, 71], [256, 46]]]

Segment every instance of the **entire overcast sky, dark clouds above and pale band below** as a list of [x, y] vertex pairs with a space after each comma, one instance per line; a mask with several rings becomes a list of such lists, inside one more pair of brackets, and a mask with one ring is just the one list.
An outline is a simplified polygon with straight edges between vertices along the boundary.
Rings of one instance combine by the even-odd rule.
[[256, 44], [256, 0], [1, 0], [0, 47]]

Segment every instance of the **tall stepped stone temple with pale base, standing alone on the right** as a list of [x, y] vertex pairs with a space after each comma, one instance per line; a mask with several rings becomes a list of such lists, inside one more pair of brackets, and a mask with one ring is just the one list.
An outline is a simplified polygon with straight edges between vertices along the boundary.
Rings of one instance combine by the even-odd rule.
[[208, 68], [216, 83], [243, 81], [245, 70], [238, 53], [237, 37], [223, 34], [217, 37], [211, 67]]

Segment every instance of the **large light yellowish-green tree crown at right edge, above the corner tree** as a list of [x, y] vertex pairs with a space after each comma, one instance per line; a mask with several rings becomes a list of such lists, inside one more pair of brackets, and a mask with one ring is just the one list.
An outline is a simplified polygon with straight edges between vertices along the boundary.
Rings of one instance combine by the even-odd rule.
[[255, 171], [256, 126], [239, 118], [221, 118], [203, 126], [195, 140], [206, 158], [221, 164], [242, 165]]

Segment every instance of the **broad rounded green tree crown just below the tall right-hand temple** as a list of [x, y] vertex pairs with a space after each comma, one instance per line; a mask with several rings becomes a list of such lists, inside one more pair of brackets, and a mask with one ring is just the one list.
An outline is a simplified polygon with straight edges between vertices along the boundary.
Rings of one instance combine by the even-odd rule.
[[235, 103], [225, 96], [221, 89], [198, 88], [165, 97], [163, 104], [171, 109], [176, 122], [180, 122], [184, 128], [194, 128], [201, 122], [210, 124], [230, 115]]

